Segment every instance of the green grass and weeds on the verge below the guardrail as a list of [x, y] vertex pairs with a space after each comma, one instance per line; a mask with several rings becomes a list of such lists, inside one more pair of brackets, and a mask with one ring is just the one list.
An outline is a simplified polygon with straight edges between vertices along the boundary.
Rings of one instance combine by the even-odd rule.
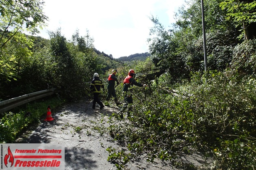
[[12, 112], [0, 114], [0, 142], [13, 143], [21, 132], [30, 125], [40, 122], [42, 116], [46, 116], [48, 105], [51, 109], [65, 103], [65, 100], [56, 97], [47, 100], [36, 100]]

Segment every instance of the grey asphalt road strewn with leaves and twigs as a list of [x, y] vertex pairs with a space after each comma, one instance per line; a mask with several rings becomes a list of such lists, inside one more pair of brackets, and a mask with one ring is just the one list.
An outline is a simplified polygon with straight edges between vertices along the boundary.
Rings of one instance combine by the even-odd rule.
[[[108, 127], [107, 119], [113, 112], [119, 111], [117, 107], [104, 107], [100, 110], [96, 105], [96, 109], [92, 109], [92, 102], [80, 101], [51, 111], [53, 121], [42, 119], [39, 126], [28, 130], [17, 139], [17, 142], [65, 145], [65, 170], [117, 169], [114, 164], [107, 161], [106, 148], [121, 146], [104, 133], [104, 128]], [[129, 163], [127, 169], [175, 170], [167, 162], [159, 161], [152, 164], [145, 159]]]

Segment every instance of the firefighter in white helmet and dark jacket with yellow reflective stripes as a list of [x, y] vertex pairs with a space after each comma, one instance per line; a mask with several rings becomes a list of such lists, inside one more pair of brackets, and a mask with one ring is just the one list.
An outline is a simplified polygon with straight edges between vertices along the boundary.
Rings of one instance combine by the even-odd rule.
[[100, 105], [100, 109], [104, 108], [104, 104], [99, 99], [101, 93], [100, 88], [104, 89], [104, 85], [99, 78], [98, 73], [93, 74], [93, 80], [91, 81], [90, 89], [93, 92], [93, 109], [95, 109], [96, 102]]

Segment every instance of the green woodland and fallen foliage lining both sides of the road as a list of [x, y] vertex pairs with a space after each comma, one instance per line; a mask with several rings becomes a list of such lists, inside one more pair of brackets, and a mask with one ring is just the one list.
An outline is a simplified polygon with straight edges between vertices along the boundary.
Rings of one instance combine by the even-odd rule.
[[[0, 101], [49, 88], [56, 88], [60, 104], [89, 100], [93, 73], [107, 85], [112, 69], [122, 82], [132, 68], [148, 87], [134, 88], [129, 123], [116, 124], [115, 113], [109, 118], [107, 133], [127, 148], [107, 149], [106, 159], [117, 169], [142, 155], [149, 162], [198, 169], [181, 159], [198, 152], [212, 159], [205, 169], [256, 169], [256, 1], [204, 0], [207, 70], [201, 0], [187, 0], [168, 29], [151, 16], [150, 53], [141, 54], [147, 55], [141, 60], [100, 52], [89, 30], [86, 36], [76, 30], [71, 40], [61, 28], [50, 31], [50, 39], [33, 36], [48, 19], [40, 0], [0, 4]], [[116, 90], [121, 96], [121, 86]], [[39, 122], [39, 115], [25, 114], [0, 114], [0, 142], [15, 142], [22, 130]]]

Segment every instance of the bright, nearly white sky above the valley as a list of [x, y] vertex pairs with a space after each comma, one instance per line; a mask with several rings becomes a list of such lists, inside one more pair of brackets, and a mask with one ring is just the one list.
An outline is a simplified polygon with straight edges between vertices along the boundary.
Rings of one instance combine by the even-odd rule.
[[49, 38], [47, 31], [61, 28], [68, 40], [78, 29], [94, 38], [99, 51], [114, 58], [148, 52], [147, 38], [153, 15], [166, 27], [174, 23], [174, 12], [184, 0], [44, 0], [48, 26], [38, 34]]

